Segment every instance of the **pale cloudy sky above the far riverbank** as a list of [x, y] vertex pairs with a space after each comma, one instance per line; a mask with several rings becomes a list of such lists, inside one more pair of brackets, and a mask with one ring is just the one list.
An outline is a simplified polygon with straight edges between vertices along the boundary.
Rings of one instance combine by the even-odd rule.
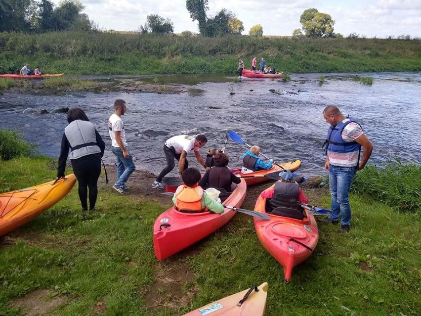
[[[55, 4], [59, 0], [53, 0]], [[186, 9], [185, 0], [80, 0], [83, 13], [102, 30], [138, 31], [146, 17], [158, 14], [169, 18], [174, 33], [199, 33]], [[248, 34], [253, 25], [263, 27], [263, 35], [291, 36], [301, 28], [299, 18], [308, 8], [330, 14], [334, 32], [343, 36], [387, 38], [410, 35], [421, 38], [421, 0], [209, 0], [207, 15], [222, 8], [236, 14]]]

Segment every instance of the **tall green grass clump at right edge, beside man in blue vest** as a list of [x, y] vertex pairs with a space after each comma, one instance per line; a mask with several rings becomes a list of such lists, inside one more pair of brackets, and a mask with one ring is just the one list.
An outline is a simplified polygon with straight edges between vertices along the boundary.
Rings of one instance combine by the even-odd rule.
[[398, 210], [420, 210], [421, 166], [404, 165], [400, 161], [388, 162], [382, 169], [366, 166], [356, 174], [352, 190]]

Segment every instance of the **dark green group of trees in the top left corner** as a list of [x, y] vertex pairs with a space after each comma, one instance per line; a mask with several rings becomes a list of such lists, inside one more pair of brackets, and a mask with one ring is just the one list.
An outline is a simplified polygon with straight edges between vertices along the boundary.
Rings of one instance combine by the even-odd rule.
[[79, 0], [63, 0], [58, 6], [49, 0], [0, 0], [0, 32], [97, 30], [83, 9]]

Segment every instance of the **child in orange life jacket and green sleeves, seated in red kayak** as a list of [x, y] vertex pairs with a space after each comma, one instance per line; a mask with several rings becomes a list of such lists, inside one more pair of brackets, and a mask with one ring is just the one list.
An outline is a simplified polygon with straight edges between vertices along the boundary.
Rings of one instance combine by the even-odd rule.
[[199, 186], [200, 178], [200, 172], [196, 168], [187, 168], [183, 171], [184, 184], [177, 187], [172, 197], [176, 209], [181, 212], [186, 211], [186, 213], [206, 212], [208, 210], [213, 213], [223, 213], [223, 205], [209, 197]]

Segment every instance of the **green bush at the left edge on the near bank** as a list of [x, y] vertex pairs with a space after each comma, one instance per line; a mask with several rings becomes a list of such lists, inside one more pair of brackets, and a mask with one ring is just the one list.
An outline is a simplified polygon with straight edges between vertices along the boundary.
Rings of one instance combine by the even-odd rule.
[[17, 129], [11, 131], [0, 129], [0, 161], [20, 156], [27, 157], [34, 153], [35, 149], [34, 144], [29, 144], [22, 139]]

